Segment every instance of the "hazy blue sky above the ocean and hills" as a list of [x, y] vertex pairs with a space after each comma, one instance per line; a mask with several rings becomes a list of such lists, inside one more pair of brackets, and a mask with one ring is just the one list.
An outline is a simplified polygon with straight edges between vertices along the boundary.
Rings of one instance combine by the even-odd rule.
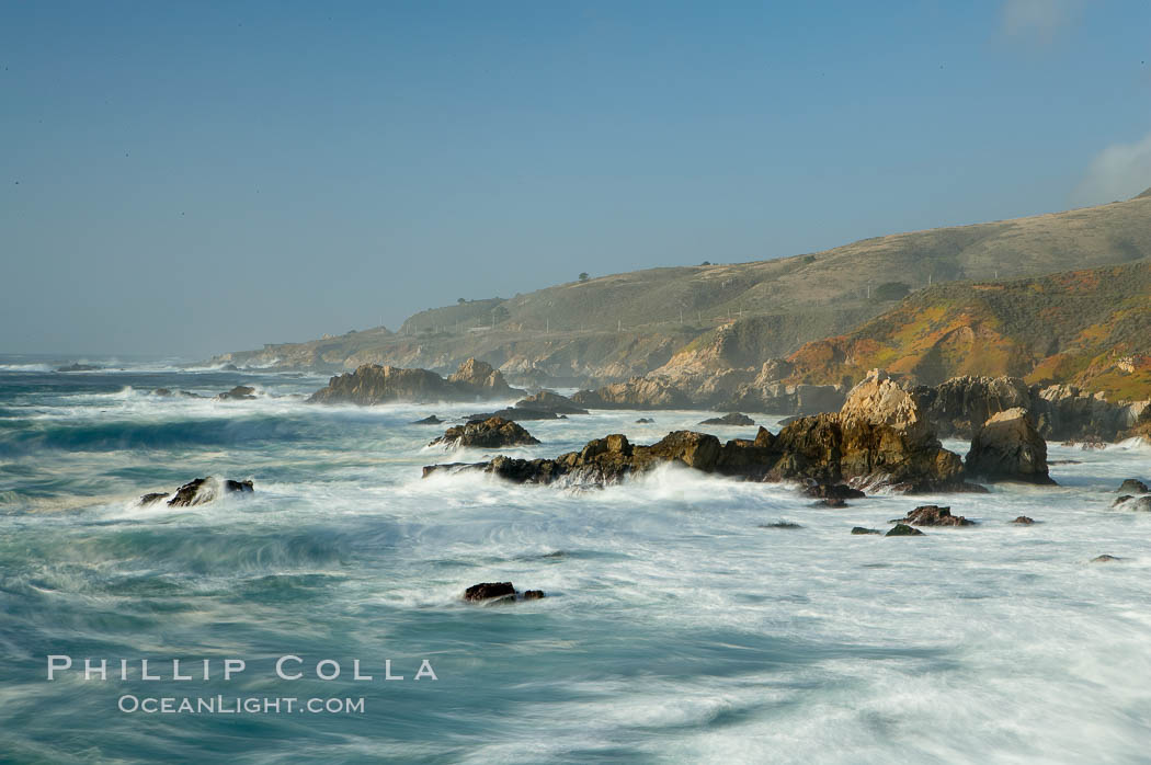
[[1145, 0], [0, 1], [0, 352], [1111, 201], [1151, 186], [1149, 60]]

